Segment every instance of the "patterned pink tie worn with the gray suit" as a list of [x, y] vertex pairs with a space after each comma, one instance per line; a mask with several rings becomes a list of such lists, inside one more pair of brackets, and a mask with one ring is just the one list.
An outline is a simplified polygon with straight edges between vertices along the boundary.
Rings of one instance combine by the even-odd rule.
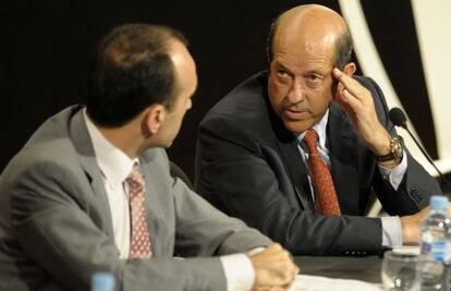
[[146, 185], [139, 173], [137, 162], [125, 180], [130, 187], [130, 216], [132, 221], [132, 242], [130, 258], [149, 258], [151, 256], [149, 228], [146, 219]]

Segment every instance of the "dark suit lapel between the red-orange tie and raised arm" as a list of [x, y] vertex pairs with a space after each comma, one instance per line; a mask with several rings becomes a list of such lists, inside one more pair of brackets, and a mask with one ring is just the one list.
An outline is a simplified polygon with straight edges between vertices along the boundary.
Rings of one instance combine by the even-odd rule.
[[341, 211], [359, 215], [358, 208], [358, 136], [339, 105], [330, 106], [326, 146], [329, 149], [331, 174]]

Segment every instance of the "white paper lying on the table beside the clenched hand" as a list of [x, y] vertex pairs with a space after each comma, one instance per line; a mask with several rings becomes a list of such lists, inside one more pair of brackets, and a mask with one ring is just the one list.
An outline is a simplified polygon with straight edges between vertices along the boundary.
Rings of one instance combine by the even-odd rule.
[[381, 291], [382, 286], [359, 280], [298, 275], [289, 291]]

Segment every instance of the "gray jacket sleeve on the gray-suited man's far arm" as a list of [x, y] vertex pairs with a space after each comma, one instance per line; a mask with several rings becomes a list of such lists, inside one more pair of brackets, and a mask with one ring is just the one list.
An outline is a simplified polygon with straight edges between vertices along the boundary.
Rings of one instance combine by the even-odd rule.
[[243, 221], [216, 209], [183, 182], [174, 184], [175, 250], [183, 256], [243, 253], [271, 241]]

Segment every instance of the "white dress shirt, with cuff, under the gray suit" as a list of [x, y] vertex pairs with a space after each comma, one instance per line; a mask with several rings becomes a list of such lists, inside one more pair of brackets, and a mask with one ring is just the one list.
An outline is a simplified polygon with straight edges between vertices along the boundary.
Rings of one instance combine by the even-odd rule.
[[[97, 163], [100, 168], [114, 230], [114, 243], [120, 258], [129, 258], [131, 242], [131, 222], [129, 205], [129, 185], [125, 179], [137, 159], [131, 159], [122, 150], [113, 146], [98, 131], [96, 125], [83, 110], [86, 126], [93, 142]], [[151, 193], [146, 193], [151, 195]], [[151, 238], [150, 238], [151, 240]], [[254, 284], [254, 267], [246, 254], [221, 256], [228, 291], [247, 291]]]

